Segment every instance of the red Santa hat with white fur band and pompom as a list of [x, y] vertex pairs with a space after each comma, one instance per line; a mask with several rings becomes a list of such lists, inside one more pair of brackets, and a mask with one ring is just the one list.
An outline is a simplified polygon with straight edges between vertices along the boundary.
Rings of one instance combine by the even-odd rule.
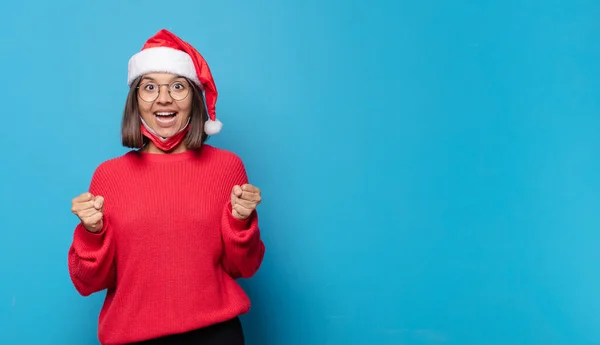
[[213, 135], [221, 131], [223, 124], [215, 113], [217, 88], [208, 64], [194, 47], [168, 30], [160, 30], [129, 59], [127, 84], [131, 86], [137, 77], [152, 72], [173, 73], [194, 81], [206, 100], [209, 119], [204, 124], [204, 132]]

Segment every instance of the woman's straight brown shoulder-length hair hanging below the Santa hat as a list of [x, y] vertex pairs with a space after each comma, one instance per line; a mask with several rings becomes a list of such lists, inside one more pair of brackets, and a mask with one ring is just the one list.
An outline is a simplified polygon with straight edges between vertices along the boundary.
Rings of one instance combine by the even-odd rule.
[[[121, 121], [121, 142], [123, 146], [139, 149], [148, 142], [148, 138], [142, 135], [140, 126], [140, 112], [138, 108], [137, 87], [140, 84], [141, 77], [137, 78], [131, 84], [127, 100], [125, 101], [125, 110]], [[192, 92], [188, 97], [192, 97], [192, 110], [190, 113], [190, 130], [185, 135], [184, 143], [188, 149], [197, 149], [208, 139], [204, 133], [204, 123], [208, 120], [204, 96], [196, 83], [187, 79], [192, 87]]]

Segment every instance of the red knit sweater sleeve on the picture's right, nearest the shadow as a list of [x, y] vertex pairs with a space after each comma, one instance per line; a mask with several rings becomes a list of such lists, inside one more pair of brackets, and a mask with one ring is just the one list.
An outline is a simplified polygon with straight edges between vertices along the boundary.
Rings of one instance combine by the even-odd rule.
[[[229, 191], [234, 185], [241, 186], [248, 183], [241, 160], [236, 160], [232, 173], [233, 184], [229, 186]], [[228, 198], [221, 218], [223, 267], [234, 279], [250, 278], [258, 271], [265, 255], [265, 245], [260, 237], [258, 226], [258, 214], [254, 210], [248, 218], [240, 220], [234, 217], [231, 211], [231, 198]]]

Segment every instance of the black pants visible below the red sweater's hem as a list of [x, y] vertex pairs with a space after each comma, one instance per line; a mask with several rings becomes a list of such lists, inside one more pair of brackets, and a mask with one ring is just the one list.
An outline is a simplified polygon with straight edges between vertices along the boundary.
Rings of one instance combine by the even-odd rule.
[[137, 345], [244, 345], [239, 318], [186, 333], [134, 343]]

